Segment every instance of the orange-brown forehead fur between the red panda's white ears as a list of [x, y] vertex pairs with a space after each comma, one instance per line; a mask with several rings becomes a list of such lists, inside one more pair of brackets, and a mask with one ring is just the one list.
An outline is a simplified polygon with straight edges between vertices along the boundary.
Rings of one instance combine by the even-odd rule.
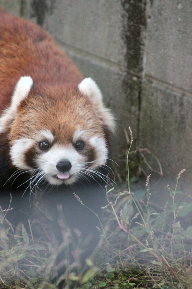
[[85, 128], [89, 136], [104, 136], [89, 98], [82, 96], [77, 88], [66, 87], [67, 94], [63, 86], [46, 87], [39, 94], [36, 87], [31, 89], [27, 99], [18, 108], [19, 117], [12, 125], [11, 140], [23, 135], [32, 136], [33, 132], [42, 128], [54, 132], [55, 141], [64, 145], [72, 142], [78, 127]]

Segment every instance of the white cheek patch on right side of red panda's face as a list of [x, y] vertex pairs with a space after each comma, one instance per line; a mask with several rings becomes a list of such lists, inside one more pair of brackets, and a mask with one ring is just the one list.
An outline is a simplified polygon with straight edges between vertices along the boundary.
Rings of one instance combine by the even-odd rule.
[[90, 138], [90, 144], [95, 148], [97, 154], [95, 163], [100, 164], [97, 164], [94, 167], [105, 165], [108, 156], [108, 149], [106, 147], [105, 140], [99, 136], [94, 136]]

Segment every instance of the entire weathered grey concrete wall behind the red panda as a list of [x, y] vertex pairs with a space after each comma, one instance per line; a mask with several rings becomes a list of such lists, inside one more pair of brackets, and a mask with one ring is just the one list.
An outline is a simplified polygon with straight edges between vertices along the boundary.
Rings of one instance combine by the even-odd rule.
[[[56, 38], [114, 111], [115, 154], [123, 128], [170, 176], [192, 169], [191, 0], [0, 0]], [[187, 175], [187, 174], [186, 174]]]

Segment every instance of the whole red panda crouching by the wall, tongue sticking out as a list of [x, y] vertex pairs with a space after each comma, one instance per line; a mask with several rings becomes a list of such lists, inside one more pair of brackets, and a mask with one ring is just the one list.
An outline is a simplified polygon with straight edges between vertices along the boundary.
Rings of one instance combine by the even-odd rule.
[[97, 84], [44, 29], [0, 9], [1, 186], [23, 173], [34, 184], [94, 178], [109, 131], [113, 116]]

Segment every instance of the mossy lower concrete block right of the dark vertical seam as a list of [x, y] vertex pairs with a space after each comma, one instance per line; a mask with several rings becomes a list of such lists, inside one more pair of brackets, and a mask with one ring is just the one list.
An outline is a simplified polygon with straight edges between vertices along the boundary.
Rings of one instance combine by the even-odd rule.
[[[192, 97], [156, 83], [142, 88], [141, 146], [160, 159], [166, 178], [176, 178], [186, 168], [192, 170]], [[190, 178], [191, 180], [191, 178]]]

